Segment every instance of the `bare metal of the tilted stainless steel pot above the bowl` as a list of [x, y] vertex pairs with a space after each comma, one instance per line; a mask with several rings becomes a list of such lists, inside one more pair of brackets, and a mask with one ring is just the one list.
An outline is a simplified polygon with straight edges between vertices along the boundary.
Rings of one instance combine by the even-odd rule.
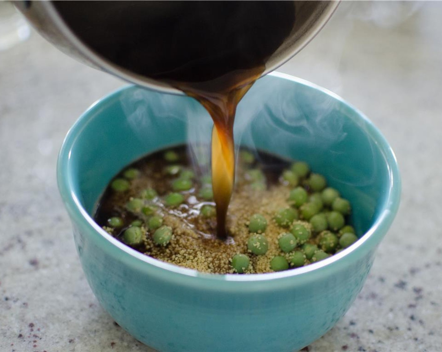
[[[146, 88], [169, 93], [182, 93], [167, 82], [131, 72], [97, 54], [66, 25], [52, 1], [14, 1], [14, 3], [15, 7], [23, 13], [43, 37], [80, 62]], [[267, 60], [263, 75], [282, 65], [309, 43], [339, 4], [338, 1], [295, 1], [294, 3], [298, 18], [302, 20], [296, 21], [289, 37]], [[130, 1], [127, 4], [130, 4]], [[96, 14], [91, 12], [90, 15]]]

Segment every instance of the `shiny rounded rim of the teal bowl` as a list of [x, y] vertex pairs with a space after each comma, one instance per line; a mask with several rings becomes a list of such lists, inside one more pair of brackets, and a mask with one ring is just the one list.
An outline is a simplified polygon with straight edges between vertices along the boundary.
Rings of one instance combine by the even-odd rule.
[[[317, 273], [319, 274], [321, 271], [324, 273], [324, 270], [327, 268], [331, 268], [333, 265], [339, 264], [342, 262], [342, 258], [348, 257], [351, 254], [356, 254], [357, 251], [362, 251], [362, 249], [367, 246], [367, 243], [372, 243], [372, 246], [369, 246], [370, 249], [376, 247], [376, 245], [380, 242], [382, 237], [385, 235], [385, 232], [388, 230], [391, 225], [397, 210], [399, 208], [400, 203], [400, 190], [401, 190], [401, 181], [400, 174], [397, 165], [396, 156], [390, 147], [389, 143], [385, 139], [385, 137], [381, 134], [381, 132], [373, 125], [373, 123], [357, 108], [354, 108], [351, 104], [347, 103], [343, 100], [343, 98], [339, 97], [337, 94], [329, 91], [328, 89], [322, 88], [319, 85], [306, 81], [302, 78], [294, 77], [286, 73], [280, 72], [272, 72], [267, 76], [272, 76], [279, 79], [284, 79], [288, 81], [293, 81], [300, 85], [305, 85], [309, 88], [315, 89], [324, 93], [333, 99], [339, 101], [344, 106], [349, 108], [354, 112], [354, 116], [358, 120], [362, 120], [365, 122], [365, 128], [369, 132], [370, 136], [376, 141], [378, 147], [381, 149], [382, 154], [385, 157], [385, 161], [388, 167], [389, 173], [389, 188], [386, 197], [384, 198], [384, 202], [382, 205], [382, 210], [380, 215], [377, 217], [373, 225], [368, 229], [368, 231], [361, 237], [357, 242], [352, 244], [350, 247], [340, 251], [339, 253], [332, 255], [331, 257], [321, 260], [320, 262], [309, 264], [305, 267], [300, 267], [296, 269], [290, 269], [286, 271], [279, 271], [273, 273], [265, 273], [265, 274], [250, 274], [250, 275], [237, 275], [237, 274], [207, 274], [196, 271], [194, 269], [189, 269], [185, 267], [180, 267], [175, 264], [166, 263], [160, 261], [159, 259], [155, 259], [149, 257], [148, 255], [142, 254], [133, 248], [130, 248], [126, 244], [115, 239], [113, 236], [108, 234], [102, 228], [99, 227], [98, 224], [92, 219], [92, 217], [87, 213], [87, 211], [82, 206], [79, 198], [72, 191], [72, 177], [70, 177], [71, 167], [70, 167], [70, 159], [72, 153], [72, 147], [75, 145], [77, 136], [82, 133], [82, 130], [88, 121], [91, 119], [91, 116], [95, 115], [95, 112], [100, 110], [103, 105], [111, 103], [116, 98], [118, 99], [119, 95], [128, 89], [133, 89], [134, 85], [125, 85], [114, 92], [107, 94], [105, 97], [100, 98], [95, 101], [91, 106], [81, 114], [81, 116], [76, 120], [76, 122], [69, 129], [63, 143], [61, 146], [61, 150], [58, 155], [57, 160], [57, 183], [58, 188], [62, 197], [62, 200], [65, 204], [66, 209], [71, 217], [73, 224], [75, 222], [80, 222], [82, 225], [89, 228], [90, 233], [95, 233], [96, 240], [104, 240], [100, 243], [108, 243], [112, 246], [112, 248], [117, 248], [118, 252], [126, 255], [126, 258], [123, 258], [122, 255], [118, 255], [118, 260], [132, 260], [131, 264], [137, 266], [140, 270], [148, 271], [149, 267], [153, 266], [156, 269], [160, 269], [162, 272], [168, 272], [173, 274], [179, 274], [184, 277], [198, 277], [206, 282], [213, 281], [226, 281], [226, 282], [236, 282], [239, 284], [240, 282], [265, 282], [274, 279], [283, 279], [283, 278], [292, 278], [305, 276], [308, 273]], [[376, 236], [377, 235], [377, 236]], [[120, 252], [121, 251], [121, 252]], [[115, 256], [117, 256], [115, 255]]]

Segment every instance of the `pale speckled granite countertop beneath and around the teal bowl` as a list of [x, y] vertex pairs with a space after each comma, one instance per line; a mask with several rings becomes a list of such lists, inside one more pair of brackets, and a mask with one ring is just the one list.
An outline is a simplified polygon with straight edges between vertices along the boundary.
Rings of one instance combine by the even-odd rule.
[[[441, 18], [440, 2], [343, 3], [280, 68], [365, 112], [403, 180], [362, 292], [305, 350], [442, 350]], [[123, 84], [34, 32], [0, 52], [0, 351], [151, 351], [92, 294], [55, 178], [69, 127]]]

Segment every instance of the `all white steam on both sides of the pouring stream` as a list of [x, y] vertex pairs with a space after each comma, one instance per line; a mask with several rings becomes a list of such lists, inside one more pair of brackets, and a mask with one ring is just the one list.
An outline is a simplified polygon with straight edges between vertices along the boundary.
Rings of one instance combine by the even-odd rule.
[[[334, 99], [327, 95], [318, 98], [313, 89], [300, 89], [297, 93], [293, 91], [294, 86], [290, 81], [273, 77], [263, 77], [252, 86], [236, 112], [236, 151], [240, 145], [245, 145], [251, 149], [277, 150], [278, 154], [288, 157], [293, 154], [290, 141], [316, 148], [320, 143], [320, 147], [327, 150], [346, 137], [342, 119], [331, 114], [337, 104]], [[197, 101], [135, 89], [123, 93], [121, 104], [135, 138], [151, 139], [164, 130], [164, 121], [167, 121], [170, 135], [186, 136], [194, 170], [201, 175], [210, 173], [213, 122]], [[183, 126], [186, 131], [179, 130]], [[280, 143], [281, 140], [287, 143]], [[164, 142], [165, 145], [175, 144], [171, 140]]]

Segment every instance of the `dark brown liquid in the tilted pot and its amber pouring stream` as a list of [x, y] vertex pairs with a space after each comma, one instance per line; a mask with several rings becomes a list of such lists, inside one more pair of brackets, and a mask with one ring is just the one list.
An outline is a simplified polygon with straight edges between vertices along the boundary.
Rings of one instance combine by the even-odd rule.
[[[56, 1], [76, 36], [97, 54], [167, 82], [210, 113], [217, 235], [232, 195], [236, 105], [290, 35], [291, 1]], [[92, 14], [92, 15], [91, 15]]]

